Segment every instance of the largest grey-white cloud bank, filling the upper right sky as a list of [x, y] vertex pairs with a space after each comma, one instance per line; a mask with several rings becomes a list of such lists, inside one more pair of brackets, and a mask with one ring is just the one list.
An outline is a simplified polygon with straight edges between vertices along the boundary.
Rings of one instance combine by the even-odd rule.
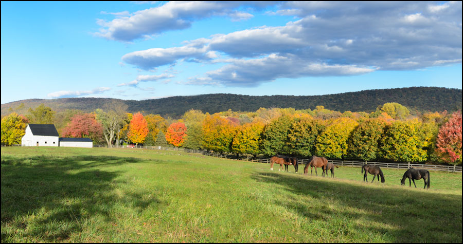
[[122, 60], [145, 70], [180, 60], [226, 63], [189, 82], [226, 86], [461, 63], [461, 2], [284, 2], [271, 14], [299, 20], [136, 51]]

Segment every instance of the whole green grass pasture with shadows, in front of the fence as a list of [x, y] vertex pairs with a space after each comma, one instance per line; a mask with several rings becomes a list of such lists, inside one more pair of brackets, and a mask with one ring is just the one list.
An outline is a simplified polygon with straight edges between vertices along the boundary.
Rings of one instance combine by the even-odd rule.
[[2, 147], [1, 165], [2, 242], [462, 241], [461, 173], [423, 190], [404, 170], [364, 183], [358, 167], [330, 179], [128, 148]]

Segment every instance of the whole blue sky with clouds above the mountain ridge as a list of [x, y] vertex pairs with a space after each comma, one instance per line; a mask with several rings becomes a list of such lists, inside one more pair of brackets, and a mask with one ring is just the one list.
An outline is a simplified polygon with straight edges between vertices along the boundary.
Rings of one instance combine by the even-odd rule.
[[2, 2], [2, 103], [461, 89], [461, 2]]

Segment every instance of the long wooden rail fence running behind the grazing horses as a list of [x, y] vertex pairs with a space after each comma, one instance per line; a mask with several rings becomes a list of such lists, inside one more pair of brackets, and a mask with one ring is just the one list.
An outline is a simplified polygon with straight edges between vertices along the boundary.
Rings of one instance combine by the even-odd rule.
[[[94, 145], [94, 147], [108, 147], [106, 145]], [[204, 150], [194, 150], [181, 147], [164, 147], [164, 146], [121, 146], [121, 145], [112, 145], [112, 148], [142, 148], [142, 149], [157, 149], [157, 150], [169, 150], [169, 151], [179, 151], [184, 153], [195, 153], [202, 154], [205, 156], [218, 157], [218, 158], [228, 158], [234, 160], [242, 160], [249, 162], [258, 162], [258, 163], [270, 163], [270, 158], [265, 157], [254, 157], [250, 155], [240, 155], [236, 154], [226, 154], [226, 153], [216, 153], [208, 152]], [[306, 164], [308, 159], [300, 158], [297, 160], [299, 164]], [[367, 162], [367, 161], [345, 161], [345, 160], [328, 160], [328, 162], [333, 163], [339, 166], [350, 166], [350, 167], [361, 167], [363, 164], [368, 163], [372, 165], [377, 165], [385, 168], [398, 168], [398, 169], [407, 169], [407, 168], [423, 168], [425, 170], [431, 171], [445, 171], [445, 172], [462, 172], [461, 166], [447, 166], [447, 165], [431, 165], [431, 164], [415, 164], [415, 163], [383, 163], [383, 162]]]

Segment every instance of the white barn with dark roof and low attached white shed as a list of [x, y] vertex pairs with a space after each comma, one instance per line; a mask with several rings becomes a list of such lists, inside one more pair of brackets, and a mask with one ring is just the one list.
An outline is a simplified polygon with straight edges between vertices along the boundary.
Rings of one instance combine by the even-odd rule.
[[53, 124], [28, 124], [21, 145], [93, 147], [93, 141], [90, 138], [60, 138]]

